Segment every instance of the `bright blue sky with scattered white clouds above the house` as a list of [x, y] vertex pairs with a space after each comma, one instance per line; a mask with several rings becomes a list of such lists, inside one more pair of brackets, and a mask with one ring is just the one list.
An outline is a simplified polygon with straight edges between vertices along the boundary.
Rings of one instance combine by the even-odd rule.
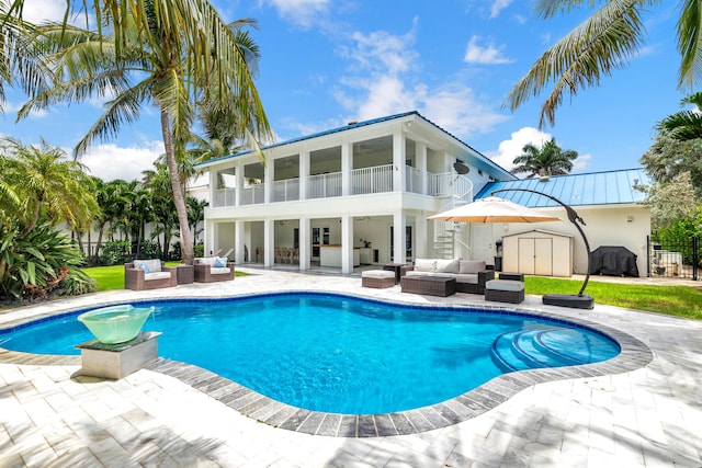
[[[574, 172], [638, 167], [654, 125], [680, 110], [675, 2], [644, 16], [646, 42], [600, 87], [566, 96], [555, 126], [536, 128], [546, 93], [514, 113], [501, 105], [531, 65], [590, 14], [542, 20], [519, 0], [214, 0], [223, 18], [253, 18], [262, 58], [257, 87], [279, 141], [389, 114], [419, 111], [510, 168], [521, 148], [556, 138], [577, 151]], [[586, 2], [587, 3], [587, 2]], [[673, 3], [673, 4], [668, 4]], [[30, 0], [25, 18], [58, 19], [65, 0]], [[101, 101], [57, 106], [14, 124], [25, 98], [8, 92], [0, 134], [70, 150]], [[82, 158], [105, 180], [138, 179], [162, 151], [155, 109]]]

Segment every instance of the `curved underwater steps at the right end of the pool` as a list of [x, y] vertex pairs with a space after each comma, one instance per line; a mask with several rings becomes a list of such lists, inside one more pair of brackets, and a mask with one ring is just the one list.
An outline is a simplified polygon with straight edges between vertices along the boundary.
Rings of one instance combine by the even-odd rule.
[[590, 362], [588, 346], [582, 346], [570, 330], [531, 329], [500, 334], [491, 349], [492, 362], [505, 372], [542, 367], [575, 366]]

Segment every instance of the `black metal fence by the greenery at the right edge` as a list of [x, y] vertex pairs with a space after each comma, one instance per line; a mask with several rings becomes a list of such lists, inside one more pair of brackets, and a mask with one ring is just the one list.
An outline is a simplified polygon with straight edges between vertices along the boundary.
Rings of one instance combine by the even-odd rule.
[[648, 276], [699, 279], [702, 241], [698, 237], [648, 236]]

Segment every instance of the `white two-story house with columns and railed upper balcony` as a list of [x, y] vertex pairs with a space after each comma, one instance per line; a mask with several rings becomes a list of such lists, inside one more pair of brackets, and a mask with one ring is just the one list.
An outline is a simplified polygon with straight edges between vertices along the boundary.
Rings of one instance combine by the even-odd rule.
[[[427, 219], [473, 202], [480, 192], [488, 196], [490, 184], [519, 184], [520, 180], [417, 112], [351, 122], [271, 145], [264, 153], [264, 163], [254, 152], [241, 152], [197, 165], [210, 174], [205, 252], [234, 248], [230, 256], [238, 264], [338, 269], [349, 274], [361, 265], [431, 256], [492, 263], [499, 253], [496, 240], [508, 232], [533, 229]], [[630, 172], [622, 171], [616, 179], [639, 176], [643, 181], [645, 176]], [[568, 185], [569, 176], [564, 178], [551, 186]], [[592, 187], [600, 189], [605, 187]], [[642, 212], [630, 199], [629, 195], [636, 196], [630, 192], [589, 208], [623, 210], [614, 218], [630, 219], [623, 224], [629, 230], [619, 231], [627, 235], [613, 242], [625, 244], [631, 238], [630, 249], [641, 255], [649, 217], [647, 209]], [[509, 194], [500, 196], [510, 198]], [[586, 199], [590, 198], [576, 196], [565, 202], [578, 205]], [[559, 207], [535, 202], [531, 206], [545, 206], [567, 219]], [[605, 228], [612, 228], [612, 218], [604, 221]], [[631, 219], [636, 219], [635, 226]], [[574, 270], [581, 272], [584, 253], [573, 227], [566, 220], [551, 222], [547, 229], [574, 239]], [[608, 243], [607, 236], [602, 242]]]

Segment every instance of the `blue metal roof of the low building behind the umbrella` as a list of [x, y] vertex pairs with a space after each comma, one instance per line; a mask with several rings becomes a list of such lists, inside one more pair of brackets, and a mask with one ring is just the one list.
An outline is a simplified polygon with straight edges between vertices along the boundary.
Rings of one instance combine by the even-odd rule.
[[[555, 175], [547, 181], [539, 178], [519, 179], [490, 182], [475, 198], [485, 198], [501, 189], [526, 189], [551, 195], [571, 206], [633, 204], [645, 198], [645, 194], [635, 190], [634, 185], [649, 182], [643, 168]], [[495, 195], [530, 208], [559, 206], [545, 196], [529, 192], [501, 192]]]

